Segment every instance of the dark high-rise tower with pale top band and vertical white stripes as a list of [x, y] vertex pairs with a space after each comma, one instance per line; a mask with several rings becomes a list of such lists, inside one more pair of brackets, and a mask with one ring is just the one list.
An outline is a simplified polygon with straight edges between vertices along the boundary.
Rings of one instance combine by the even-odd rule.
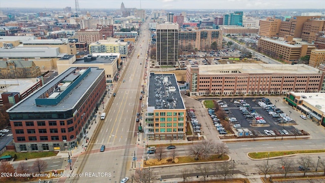
[[156, 56], [160, 66], [175, 66], [178, 59], [178, 24], [157, 24]]

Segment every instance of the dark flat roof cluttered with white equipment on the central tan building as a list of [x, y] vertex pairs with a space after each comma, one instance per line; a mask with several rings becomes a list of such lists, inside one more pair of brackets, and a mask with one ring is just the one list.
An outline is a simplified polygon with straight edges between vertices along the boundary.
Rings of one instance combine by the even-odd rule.
[[148, 91], [148, 107], [185, 109], [174, 74], [150, 73]]

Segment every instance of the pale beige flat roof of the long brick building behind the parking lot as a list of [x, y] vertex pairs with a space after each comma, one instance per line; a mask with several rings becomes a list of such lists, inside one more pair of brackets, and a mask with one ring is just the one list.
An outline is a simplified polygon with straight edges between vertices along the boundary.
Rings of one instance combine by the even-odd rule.
[[[193, 67], [193, 66], [187, 66]], [[220, 64], [200, 65], [200, 74], [232, 74], [231, 71], [247, 74], [318, 74], [319, 70], [305, 64]], [[193, 67], [194, 68], [194, 67]], [[195, 67], [196, 68], [196, 67]], [[230, 71], [230, 72], [224, 72]]]

